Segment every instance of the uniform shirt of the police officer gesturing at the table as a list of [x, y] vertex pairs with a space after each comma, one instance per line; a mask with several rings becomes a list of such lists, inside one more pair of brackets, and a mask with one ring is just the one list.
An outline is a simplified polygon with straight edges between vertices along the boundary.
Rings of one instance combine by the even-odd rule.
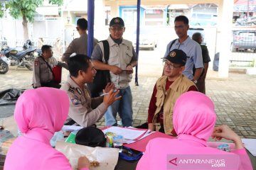
[[68, 80], [60, 89], [67, 92], [70, 100], [68, 118], [65, 123], [74, 120], [75, 125], [88, 127], [100, 120], [107, 111], [107, 106], [105, 106], [105, 103], [102, 103], [102, 96], [91, 98], [87, 86], [83, 86], [80, 89], [71, 77], [68, 77]]

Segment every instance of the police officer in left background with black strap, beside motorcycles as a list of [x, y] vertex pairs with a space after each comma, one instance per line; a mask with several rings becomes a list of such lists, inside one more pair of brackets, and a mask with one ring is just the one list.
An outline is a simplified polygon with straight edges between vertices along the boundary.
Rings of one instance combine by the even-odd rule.
[[53, 67], [60, 66], [68, 69], [68, 64], [58, 62], [53, 57], [53, 50], [50, 45], [43, 45], [42, 55], [36, 57], [33, 67], [33, 88], [41, 86], [60, 89], [60, 84], [54, 81]]

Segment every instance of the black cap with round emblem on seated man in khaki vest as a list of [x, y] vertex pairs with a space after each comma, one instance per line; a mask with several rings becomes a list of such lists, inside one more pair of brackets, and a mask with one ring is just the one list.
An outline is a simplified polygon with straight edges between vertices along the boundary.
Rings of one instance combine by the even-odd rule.
[[163, 59], [169, 60], [174, 64], [185, 65], [187, 56], [186, 56], [186, 53], [183, 52], [183, 50], [174, 49], [174, 50], [171, 50], [169, 54]]

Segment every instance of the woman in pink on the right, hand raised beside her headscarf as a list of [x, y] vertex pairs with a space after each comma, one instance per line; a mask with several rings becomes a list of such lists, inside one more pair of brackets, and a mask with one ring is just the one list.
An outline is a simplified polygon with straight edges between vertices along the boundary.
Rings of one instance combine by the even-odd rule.
[[[141, 169], [252, 169], [238, 135], [227, 125], [214, 128], [213, 102], [206, 95], [189, 91], [174, 106], [174, 129], [177, 139], [156, 138], [146, 146], [137, 164]], [[210, 136], [233, 140], [235, 151], [225, 152], [208, 147]]]

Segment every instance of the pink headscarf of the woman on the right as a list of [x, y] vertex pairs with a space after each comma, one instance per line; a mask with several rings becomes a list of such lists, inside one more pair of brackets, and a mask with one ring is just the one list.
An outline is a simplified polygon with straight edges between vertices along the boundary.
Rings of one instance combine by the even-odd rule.
[[176, 101], [173, 121], [177, 135], [193, 135], [207, 141], [216, 122], [213, 102], [204, 94], [188, 91]]

